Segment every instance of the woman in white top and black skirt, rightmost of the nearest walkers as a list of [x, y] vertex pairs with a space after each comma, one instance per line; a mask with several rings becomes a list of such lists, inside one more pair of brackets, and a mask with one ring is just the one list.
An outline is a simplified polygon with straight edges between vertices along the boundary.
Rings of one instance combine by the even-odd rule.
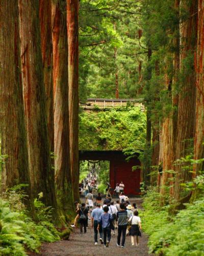
[[[129, 222], [131, 223], [131, 230], [129, 232], [129, 235], [131, 236], [131, 242], [132, 245], [139, 245], [138, 237], [141, 237], [140, 229], [142, 229], [141, 226], [141, 220], [140, 217], [138, 217], [138, 211], [134, 211], [134, 216], [129, 219]], [[136, 236], [136, 244], [134, 241], [134, 236]]]

